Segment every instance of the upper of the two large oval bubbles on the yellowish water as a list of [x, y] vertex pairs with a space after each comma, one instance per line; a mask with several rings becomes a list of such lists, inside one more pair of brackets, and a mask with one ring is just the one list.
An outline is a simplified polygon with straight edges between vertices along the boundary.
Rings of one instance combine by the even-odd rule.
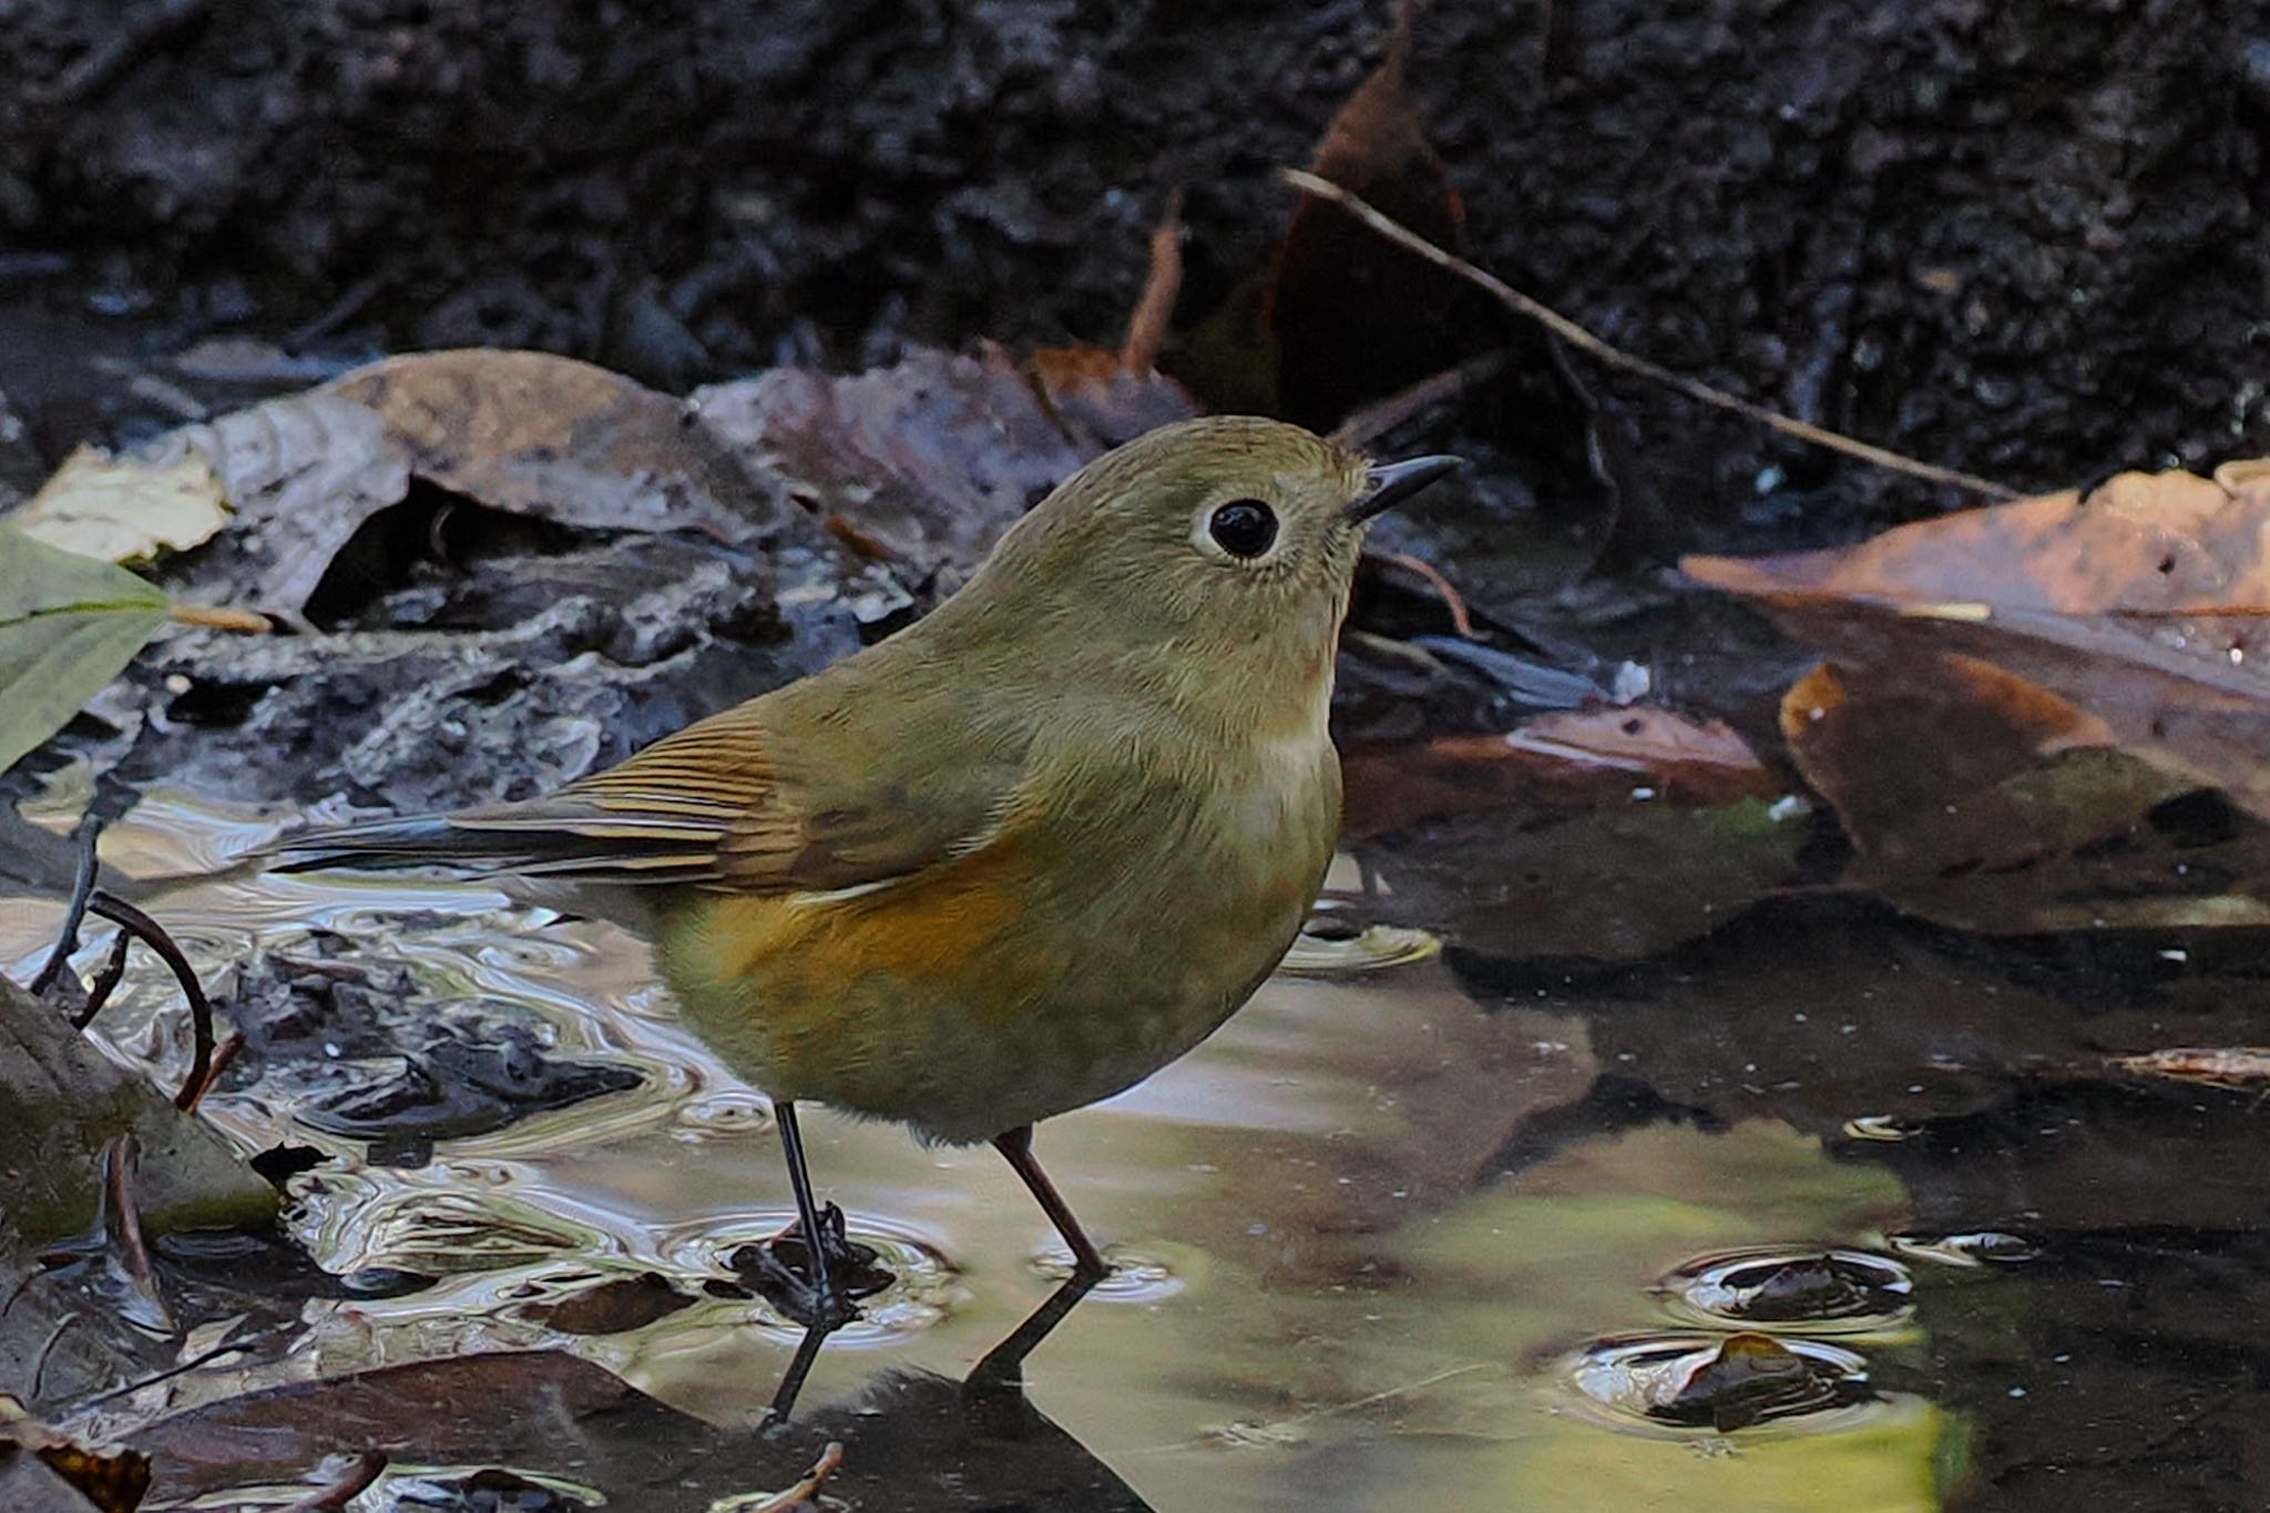
[[1916, 1311], [1907, 1268], [1866, 1250], [1721, 1252], [1671, 1270], [1655, 1291], [1693, 1322], [1768, 1334], [1873, 1334]]

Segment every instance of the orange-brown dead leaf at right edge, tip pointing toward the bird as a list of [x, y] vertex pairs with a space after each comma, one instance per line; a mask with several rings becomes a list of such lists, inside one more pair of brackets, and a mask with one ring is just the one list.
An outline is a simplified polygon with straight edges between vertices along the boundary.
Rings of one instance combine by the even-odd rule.
[[[1757, 599], [1839, 667], [1977, 658], [2120, 749], [2270, 817], [2270, 472], [2120, 474], [1846, 551], [1687, 572]], [[1966, 699], [1950, 685], [1948, 703]]]

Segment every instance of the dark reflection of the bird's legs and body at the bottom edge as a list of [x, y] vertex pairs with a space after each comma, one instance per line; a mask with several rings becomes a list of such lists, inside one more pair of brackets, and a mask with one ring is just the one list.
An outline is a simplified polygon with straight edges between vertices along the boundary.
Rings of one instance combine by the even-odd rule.
[[890, 1370], [847, 1404], [794, 1418], [804, 1379], [831, 1327], [806, 1329], [781, 1375], [763, 1438], [797, 1454], [842, 1440], [842, 1470], [829, 1481], [860, 1508], [1051, 1508], [1062, 1513], [1146, 1513], [1151, 1504], [1049, 1420], [1024, 1395], [1024, 1361], [1096, 1286], [1074, 1275], [969, 1370], [949, 1381]]

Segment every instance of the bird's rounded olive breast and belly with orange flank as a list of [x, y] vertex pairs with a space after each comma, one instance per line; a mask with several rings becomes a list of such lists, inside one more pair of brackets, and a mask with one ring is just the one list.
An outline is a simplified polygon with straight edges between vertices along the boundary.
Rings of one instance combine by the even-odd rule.
[[665, 975], [776, 1096], [953, 1141], [1094, 1102], [1244, 1003], [1330, 860], [1321, 730], [1214, 758], [1081, 764], [883, 887], [697, 901], [661, 937]]

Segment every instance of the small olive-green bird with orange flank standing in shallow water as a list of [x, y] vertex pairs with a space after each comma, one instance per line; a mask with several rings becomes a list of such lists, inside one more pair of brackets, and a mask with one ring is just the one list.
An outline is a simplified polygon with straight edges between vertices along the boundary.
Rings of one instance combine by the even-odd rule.
[[772, 1098], [826, 1309], [806, 1098], [992, 1141], [1099, 1277], [1033, 1123], [1180, 1057], [1292, 946], [1339, 830], [1367, 522], [1455, 465], [1273, 420], [1153, 431], [899, 635], [545, 798], [309, 832], [288, 867], [572, 885], [647, 932]]

